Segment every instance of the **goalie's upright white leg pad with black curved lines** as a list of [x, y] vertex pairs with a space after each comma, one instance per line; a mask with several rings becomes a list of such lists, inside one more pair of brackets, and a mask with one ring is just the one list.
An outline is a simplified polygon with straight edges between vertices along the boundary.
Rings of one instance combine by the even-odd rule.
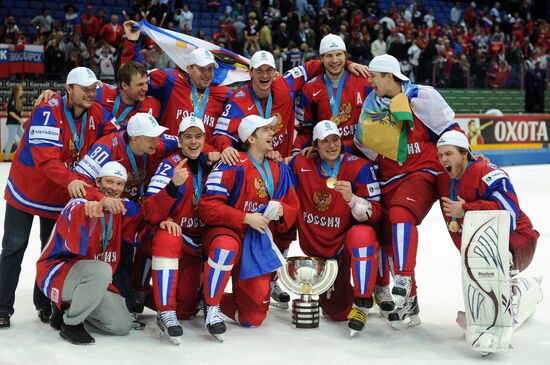
[[484, 355], [508, 349], [513, 331], [509, 227], [506, 211], [471, 211], [462, 228], [466, 341]]

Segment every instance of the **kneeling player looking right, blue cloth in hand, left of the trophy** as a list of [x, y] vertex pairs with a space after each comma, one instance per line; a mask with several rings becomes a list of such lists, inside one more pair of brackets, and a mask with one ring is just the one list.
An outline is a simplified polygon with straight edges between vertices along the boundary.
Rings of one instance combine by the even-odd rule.
[[[285, 262], [274, 246], [276, 225], [292, 227], [299, 202], [286, 165], [265, 156], [273, 150], [275, 118], [249, 115], [239, 125], [246, 152], [239, 163], [218, 164], [208, 176], [199, 217], [208, 225], [203, 294], [206, 327], [215, 337], [226, 330], [221, 311], [243, 326], [259, 326], [269, 306], [271, 272]], [[224, 294], [229, 277], [233, 293]], [[222, 298], [223, 296], [223, 298]]]

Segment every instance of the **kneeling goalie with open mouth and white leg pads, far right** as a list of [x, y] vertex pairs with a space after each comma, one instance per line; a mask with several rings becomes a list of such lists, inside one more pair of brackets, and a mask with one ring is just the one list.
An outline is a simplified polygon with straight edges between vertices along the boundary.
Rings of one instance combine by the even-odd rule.
[[521, 211], [508, 175], [474, 159], [464, 134], [444, 133], [437, 150], [446, 170], [438, 178], [441, 209], [462, 256], [466, 311], [457, 321], [474, 351], [506, 350], [541, 296], [540, 278], [514, 277], [531, 263], [539, 233]]

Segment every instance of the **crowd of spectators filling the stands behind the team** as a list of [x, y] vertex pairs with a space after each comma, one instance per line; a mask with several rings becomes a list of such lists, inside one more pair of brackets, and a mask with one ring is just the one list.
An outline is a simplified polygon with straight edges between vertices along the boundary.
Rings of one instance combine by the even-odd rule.
[[[221, 17], [212, 16], [214, 30], [207, 36], [193, 26], [194, 14], [183, 0], [134, 0], [123, 14], [105, 14], [92, 5], [84, 9], [67, 5], [65, 18], [53, 19], [44, 8], [32, 20], [35, 34], [21, 33], [17, 19], [8, 16], [0, 39], [16, 47], [44, 45], [46, 78], [62, 79], [75, 66], [87, 66], [111, 81], [125, 19], [146, 18], [246, 57], [269, 50], [280, 71], [317, 57], [321, 38], [335, 33], [345, 40], [351, 60], [366, 64], [389, 53], [419, 83], [528, 90], [541, 83], [546, 86], [548, 79], [550, 26], [548, 15], [534, 8], [535, 1], [456, 2], [448, 24], [436, 19], [422, 0], [401, 7], [392, 3], [389, 11], [381, 11], [372, 0], [207, 1], [202, 2], [205, 11], [225, 10]], [[143, 44], [147, 67], [175, 66], [150, 40]]]

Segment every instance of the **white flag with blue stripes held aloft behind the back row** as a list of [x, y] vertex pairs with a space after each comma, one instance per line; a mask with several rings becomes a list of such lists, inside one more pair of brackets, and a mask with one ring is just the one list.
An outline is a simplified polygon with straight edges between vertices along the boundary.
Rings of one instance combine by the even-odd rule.
[[189, 64], [189, 54], [195, 48], [206, 48], [214, 54], [219, 65], [214, 72], [215, 85], [229, 85], [235, 82], [250, 80], [248, 74], [249, 60], [215, 44], [203, 41], [186, 34], [174, 32], [152, 25], [142, 20], [139, 30], [153, 39], [156, 44], [183, 70]]

